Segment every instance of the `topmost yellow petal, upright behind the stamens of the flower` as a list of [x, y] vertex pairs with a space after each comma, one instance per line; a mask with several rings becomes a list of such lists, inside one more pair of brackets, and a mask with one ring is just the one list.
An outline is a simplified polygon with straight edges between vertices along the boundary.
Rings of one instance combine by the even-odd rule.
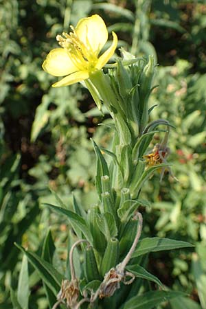
[[80, 19], [76, 26], [76, 33], [84, 45], [90, 48], [96, 56], [108, 39], [106, 25], [102, 17], [97, 14]]

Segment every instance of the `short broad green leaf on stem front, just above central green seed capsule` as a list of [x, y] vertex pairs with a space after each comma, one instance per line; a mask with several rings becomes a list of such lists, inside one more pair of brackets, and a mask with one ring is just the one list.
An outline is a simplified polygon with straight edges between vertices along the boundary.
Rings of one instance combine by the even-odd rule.
[[117, 236], [118, 230], [115, 218], [109, 212], [106, 212], [105, 214], [97, 214], [97, 223], [107, 241]]

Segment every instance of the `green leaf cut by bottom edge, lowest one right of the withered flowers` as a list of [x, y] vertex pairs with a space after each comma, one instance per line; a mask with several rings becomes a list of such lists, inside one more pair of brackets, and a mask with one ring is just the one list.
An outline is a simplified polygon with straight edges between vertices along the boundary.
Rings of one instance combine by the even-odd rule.
[[126, 301], [121, 309], [151, 309], [161, 304], [163, 301], [182, 295], [174, 291], [156, 290], [143, 295], [138, 295]]

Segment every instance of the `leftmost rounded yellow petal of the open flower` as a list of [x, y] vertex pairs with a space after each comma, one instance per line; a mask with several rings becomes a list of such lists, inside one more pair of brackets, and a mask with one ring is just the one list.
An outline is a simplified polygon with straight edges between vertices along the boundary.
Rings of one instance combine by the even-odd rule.
[[69, 58], [68, 52], [63, 48], [52, 49], [42, 65], [43, 69], [53, 76], [65, 76], [78, 71]]

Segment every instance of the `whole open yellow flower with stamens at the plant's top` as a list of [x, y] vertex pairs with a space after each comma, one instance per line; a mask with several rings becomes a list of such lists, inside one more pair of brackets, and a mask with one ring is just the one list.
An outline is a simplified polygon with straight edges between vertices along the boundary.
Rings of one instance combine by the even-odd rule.
[[108, 40], [103, 19], [93, 15], [80, 19], [73, 32], [56, 36], [62, 48], [53, 49], [43, 62], [43, 69], [53, 76], [66, 76], [53, 87], [68, 86], [89, 78], [96, 70], [102, 69], [113, 56], [117, 47], [117, 35], [113, 32], [112, 45], [99, 58], [102, 47]]

